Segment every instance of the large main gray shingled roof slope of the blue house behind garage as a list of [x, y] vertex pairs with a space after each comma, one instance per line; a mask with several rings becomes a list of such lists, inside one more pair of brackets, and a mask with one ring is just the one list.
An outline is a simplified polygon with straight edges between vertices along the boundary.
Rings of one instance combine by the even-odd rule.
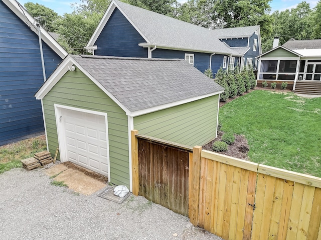
[[[147, 43], [173, 48], [240, 55], [222, 43], [216, 31], [136, 7], [118, 0], [116, 4], [147, 38]], [[257, 27], [256, 27], [257, 28]], [[253, 31], [254, 32], [254, 31]]]

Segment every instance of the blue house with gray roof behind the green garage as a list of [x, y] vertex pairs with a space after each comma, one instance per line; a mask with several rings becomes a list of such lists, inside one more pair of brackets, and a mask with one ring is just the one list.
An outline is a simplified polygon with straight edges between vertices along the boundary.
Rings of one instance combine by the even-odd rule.
[[112, 0], [85, 48], [94, 55], [183, 58], [202, 72], [216, 73], [241, 62], [255, 67], [260, 27], [211, 30]]

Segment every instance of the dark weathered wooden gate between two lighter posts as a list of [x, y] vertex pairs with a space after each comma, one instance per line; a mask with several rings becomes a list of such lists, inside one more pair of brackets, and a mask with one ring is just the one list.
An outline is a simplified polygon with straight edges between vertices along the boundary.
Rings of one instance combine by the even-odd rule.
[[188, 215], [189, 154], [192, 148], [136, 135], [139, 195]]

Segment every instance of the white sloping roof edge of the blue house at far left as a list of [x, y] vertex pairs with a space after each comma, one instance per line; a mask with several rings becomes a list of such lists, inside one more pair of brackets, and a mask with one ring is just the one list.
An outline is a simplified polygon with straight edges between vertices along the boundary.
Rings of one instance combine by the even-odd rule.
[[[38, 22], [28, 11], [16, 0], [2, 0], [32, 31], [39, 35]], [[68, 52], [43, 28], [41, 28], [41, 39], [47, 43], [61, 58], [68, 55]]]

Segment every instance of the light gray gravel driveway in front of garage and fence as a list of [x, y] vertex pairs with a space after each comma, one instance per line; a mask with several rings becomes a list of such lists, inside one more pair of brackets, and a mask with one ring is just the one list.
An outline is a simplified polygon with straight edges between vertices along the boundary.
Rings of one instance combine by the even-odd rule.
[[144, 197], [118, 204], [50, 181], [43, 169], [0, 174], [0, 239], [222, 239]]

